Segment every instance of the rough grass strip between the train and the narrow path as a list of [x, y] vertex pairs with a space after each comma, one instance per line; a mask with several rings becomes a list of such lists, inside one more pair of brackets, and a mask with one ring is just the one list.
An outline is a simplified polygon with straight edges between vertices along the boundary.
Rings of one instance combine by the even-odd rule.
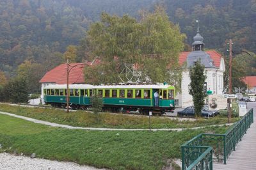
[[[92, 112], [76, 111], [65, 112], [60, 109], [29, 108], [0, 104], [0, 111], [11, 112], [20, 116], [35, 118], [37, 120], [50, 121], [76, 127], [105, 127], [105, 128], [148, 128], [147, 116], [134, 116], [128, 114], [93, 114]], [[233, 118], [232, 122], [237, 121]], [[199, 118], [196, 121], [179, 121], [177, 119], [153, 116], [152, 128], [190, 128], [208, 125], [220, 125], [227, 123], [227, 118]]]

